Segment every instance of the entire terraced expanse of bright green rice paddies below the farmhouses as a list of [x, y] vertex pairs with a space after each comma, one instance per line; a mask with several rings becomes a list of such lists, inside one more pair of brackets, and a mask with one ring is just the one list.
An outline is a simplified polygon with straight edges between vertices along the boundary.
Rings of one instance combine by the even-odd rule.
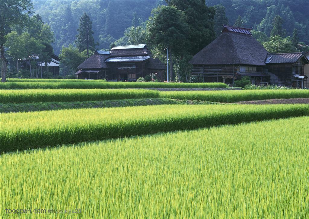
[[0, 83], [0, 218], [309, 217], [308, 90], [139, 84]]

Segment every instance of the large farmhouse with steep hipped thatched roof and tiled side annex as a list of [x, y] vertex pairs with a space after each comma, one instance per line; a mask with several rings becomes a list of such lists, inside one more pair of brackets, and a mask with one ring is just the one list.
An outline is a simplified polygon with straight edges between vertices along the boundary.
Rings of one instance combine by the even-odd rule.
[[252, 84], [303, 88], [307, 82], [303, 53], [269, 54], [252, 36], [252, 28], [223, 25], [222, 34], [190, 61], [201, 82], [224, 82], [249, 76]]

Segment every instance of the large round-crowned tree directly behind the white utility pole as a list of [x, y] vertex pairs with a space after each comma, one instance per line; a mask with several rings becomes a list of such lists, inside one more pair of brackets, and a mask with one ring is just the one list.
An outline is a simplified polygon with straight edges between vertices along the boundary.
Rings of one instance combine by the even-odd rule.
[[171, 57], [171, 81], [173, 80], [172, 57], [180, 56], [187, 50], [189, 32], [184, 13], [175, 6], [159, 6], [153, 10], [153, 17], [147, 23], [148, 40], [161, 53], [169, 49]]

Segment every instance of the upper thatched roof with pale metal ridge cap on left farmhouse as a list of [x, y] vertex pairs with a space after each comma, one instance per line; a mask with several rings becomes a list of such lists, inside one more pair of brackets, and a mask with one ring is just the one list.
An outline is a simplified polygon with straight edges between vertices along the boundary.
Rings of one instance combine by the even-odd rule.
[[111, 48], [111, 57], [148, 56], [148, 55], [151, 55], [151, 53], [147, 49], [146, 44], [116, 46]]

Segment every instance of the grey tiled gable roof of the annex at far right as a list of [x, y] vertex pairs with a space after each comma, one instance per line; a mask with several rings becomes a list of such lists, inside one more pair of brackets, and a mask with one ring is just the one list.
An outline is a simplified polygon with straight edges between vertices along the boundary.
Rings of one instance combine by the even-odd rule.
[[269, 53], [266, 56], [265, 63], [294, 63], [302, 57], [305, 57], [303, 53]]

